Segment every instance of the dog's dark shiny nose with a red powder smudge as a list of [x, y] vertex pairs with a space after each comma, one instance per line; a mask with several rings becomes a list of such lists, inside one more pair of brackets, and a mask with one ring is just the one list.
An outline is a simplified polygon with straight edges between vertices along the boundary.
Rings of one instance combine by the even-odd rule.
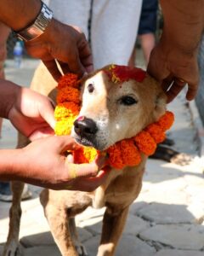
[[88, 119], [86, 117], [80, 117], [74, 122], [74, 130], [77, 135], [81, 137], [88, 137], [90, 135], [96, 134], [98, 128], [93, 119]]

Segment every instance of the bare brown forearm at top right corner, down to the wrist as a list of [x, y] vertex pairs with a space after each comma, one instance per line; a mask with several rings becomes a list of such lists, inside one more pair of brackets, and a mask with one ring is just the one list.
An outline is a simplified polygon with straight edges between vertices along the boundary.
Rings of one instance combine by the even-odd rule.
[[162, 39], [191, 53], [198, 48], [204, 28], [204, 0], [161, 0], [164, 16]]

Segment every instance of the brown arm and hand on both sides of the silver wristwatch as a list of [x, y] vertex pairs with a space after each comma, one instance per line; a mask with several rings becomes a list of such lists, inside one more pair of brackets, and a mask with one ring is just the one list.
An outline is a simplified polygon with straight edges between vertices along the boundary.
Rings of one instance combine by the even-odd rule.
[[[31, 25], [40, 12], [40, 0], [0, 1], [0, 20], [14, 31]], [[22, 15], [26, 14], [26, 15]], [[45, 32], [26, 42], [27, 52], [40, 58], [54, 79], [61, 76], [56, 61], [64, 73], [68, 71], [82, 76], [93, 70], [93, 61], [88, 41], [79, 28], [62, 24], [52, 19]]]

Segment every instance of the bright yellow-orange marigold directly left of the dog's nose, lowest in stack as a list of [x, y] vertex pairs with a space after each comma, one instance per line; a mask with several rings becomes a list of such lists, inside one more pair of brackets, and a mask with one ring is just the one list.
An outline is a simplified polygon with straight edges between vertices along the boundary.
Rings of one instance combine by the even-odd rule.
[[69, 119], [61, 119], [58, 121], [54, 127], [54, 132], [56, 135], [70, 135], [71, 128], [76, 117], [70, 117]]

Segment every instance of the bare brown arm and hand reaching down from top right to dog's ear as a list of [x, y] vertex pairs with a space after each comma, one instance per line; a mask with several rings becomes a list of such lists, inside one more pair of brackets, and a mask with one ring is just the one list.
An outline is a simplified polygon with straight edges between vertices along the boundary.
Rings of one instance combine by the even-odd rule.
[[186, 83], [186, 98], [192, 100], [199, 80], [197, 53], [204, 29], [204, 0], [161, 0], [161, 9], [163, 32], [151, 52], [148, 73], [161, 82], [168, 102], [178, 95]]

